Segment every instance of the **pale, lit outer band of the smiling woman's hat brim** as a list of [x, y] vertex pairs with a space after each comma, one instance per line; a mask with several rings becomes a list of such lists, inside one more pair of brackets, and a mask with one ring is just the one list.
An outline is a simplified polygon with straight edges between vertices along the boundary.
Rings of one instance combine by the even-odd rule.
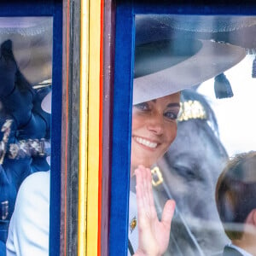
[[185, 61], [133, 79], [133, 104], [148, 102], [201, 84], [235, 66], [246, 56], [246, 50], [239, 46], [210, 40], [201, 40], [201, 43], [201, 49]]

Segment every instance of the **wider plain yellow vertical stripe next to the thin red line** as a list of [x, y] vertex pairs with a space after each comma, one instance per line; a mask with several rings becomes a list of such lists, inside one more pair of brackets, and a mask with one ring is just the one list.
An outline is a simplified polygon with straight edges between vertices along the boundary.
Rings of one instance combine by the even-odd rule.
[[90, 0], [89, 11], [89, 137], [86, 255], [96, 256], [98, 238], [101, 0]]

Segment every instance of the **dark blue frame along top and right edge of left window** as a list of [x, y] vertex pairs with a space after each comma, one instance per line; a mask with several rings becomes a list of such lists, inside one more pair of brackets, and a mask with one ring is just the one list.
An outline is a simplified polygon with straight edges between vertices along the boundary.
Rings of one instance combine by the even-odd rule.
[[0, 16], [52, 16], [52, 113], [51, 119], [51, 178], [49, 255], [60, 255], [61, 230], [61, 94], [62, 94], [62, 1], [5, 1], [1, 3]]

